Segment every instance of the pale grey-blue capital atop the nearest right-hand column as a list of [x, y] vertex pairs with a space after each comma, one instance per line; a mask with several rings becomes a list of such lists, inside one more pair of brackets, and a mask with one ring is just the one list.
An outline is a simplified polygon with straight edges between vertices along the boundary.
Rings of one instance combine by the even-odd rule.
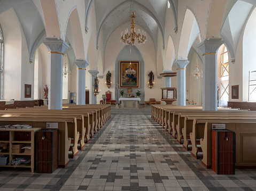
[[208, 38], [204, 41], [201, 41], [201, 43], [198, 45], [198, 48], [201, 50], [201, 52], [204, 55], [207, 54], [216, 54], [219, 47], [224, 43], [224, 40], [221, 40], [221, 38]]

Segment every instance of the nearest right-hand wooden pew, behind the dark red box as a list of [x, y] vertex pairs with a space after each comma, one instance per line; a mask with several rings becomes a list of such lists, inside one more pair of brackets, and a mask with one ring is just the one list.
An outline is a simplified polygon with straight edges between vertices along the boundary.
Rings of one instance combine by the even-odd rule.
[[203, 150], [201, 163], [206, 168], [211, 168], [211, 129], [213, 123], [226, 124], [226, 129], [235, 131], [236, 134], [236, 168], [256, 167], [256, 120], [255, 119], [195, 119], [195, 124], [204, 126], [204, 137], [200, 139]]

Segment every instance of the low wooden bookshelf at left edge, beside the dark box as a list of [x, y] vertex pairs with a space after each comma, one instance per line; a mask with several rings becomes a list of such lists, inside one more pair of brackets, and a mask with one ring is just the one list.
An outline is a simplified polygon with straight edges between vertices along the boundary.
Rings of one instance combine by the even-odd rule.
[[[7, 138], [0, 137], [0, 143], [9, 143], [9, 152], [2, 152], [0, 154], [8, 157], [7, 163], [11, 162], [16, 157], [30, 156], [30, 164], [17, 165], [19, 168], [31, 168], [34, 172], [35, 167], [35, 132], [41, 128], [29, 128], [29, 129], [0, 129], [0, 134], [9, 134], [9, 140]], [[5, 132], [5, 133], [4, 133]], [[6, 135], [7, 135], [6, 134]], [[31, 153], [13, 153], [12, 146], [17, 144], [26, 144], [31, 146]], [[14, 168], [15, 165], [7, 164], [0, 165], [0, 167]]]

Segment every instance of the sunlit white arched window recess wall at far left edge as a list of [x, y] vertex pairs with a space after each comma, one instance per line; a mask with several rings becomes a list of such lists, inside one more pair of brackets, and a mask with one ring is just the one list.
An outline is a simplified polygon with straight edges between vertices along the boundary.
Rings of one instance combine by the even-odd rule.
[[20, 100], [22, 47], [20, 24], [13, 9], [0, 14], [0, 23], [4, 34], [3, 99]]

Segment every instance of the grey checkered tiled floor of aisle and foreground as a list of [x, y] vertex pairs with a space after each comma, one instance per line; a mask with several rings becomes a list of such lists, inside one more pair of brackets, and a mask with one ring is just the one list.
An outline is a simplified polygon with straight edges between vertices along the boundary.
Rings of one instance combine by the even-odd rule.
[[216, 175], [170, 138], [150, 107], [112, 109], [112, 118], [52, 174], [1, 169], [0, 190], [256, 190], [256, 170]]

